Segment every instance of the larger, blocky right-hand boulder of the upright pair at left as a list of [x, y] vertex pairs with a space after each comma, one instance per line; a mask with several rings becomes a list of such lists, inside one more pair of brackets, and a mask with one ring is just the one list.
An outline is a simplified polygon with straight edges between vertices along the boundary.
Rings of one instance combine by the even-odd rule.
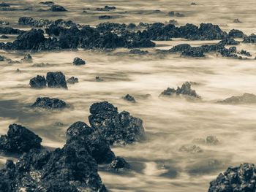
[[48, 72], [46, 75], [48, 88], [67, 89], [66, 77], [62, 72]]

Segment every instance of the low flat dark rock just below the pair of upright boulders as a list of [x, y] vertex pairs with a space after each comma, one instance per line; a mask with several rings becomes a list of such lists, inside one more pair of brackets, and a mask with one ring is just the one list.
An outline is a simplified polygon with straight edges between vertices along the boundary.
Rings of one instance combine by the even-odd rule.
[[65, 101], [57, 98], [38, 97], [31, 107], [39, 107], [46, 110], [61, 110], [67, 107]]

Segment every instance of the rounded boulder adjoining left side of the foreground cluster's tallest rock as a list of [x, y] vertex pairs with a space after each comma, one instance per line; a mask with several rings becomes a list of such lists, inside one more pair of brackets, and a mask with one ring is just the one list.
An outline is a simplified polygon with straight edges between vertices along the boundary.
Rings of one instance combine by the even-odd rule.
[[67, 128], [67, 137], [78, 137], [79, 135], [89, 135], [94, 131], [86, 123], [81, 121], [73, 123], [69, 128]]

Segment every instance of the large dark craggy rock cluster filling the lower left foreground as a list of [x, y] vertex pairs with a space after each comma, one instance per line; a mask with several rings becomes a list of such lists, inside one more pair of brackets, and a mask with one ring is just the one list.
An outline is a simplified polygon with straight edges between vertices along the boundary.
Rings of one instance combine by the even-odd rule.
[[110, 144], [141, 139], [142, 121], [128, 112], [118, 114], [117, 108], [107, 101], [93, 104], [90, 112], [91, 127], [83, 122], [73, 123], [67, 129], [64, 147], [53, 151], [43, 148], [42, 139], [28, 129], [11, 125], [8, 136], [1, 137], [0, 146], [11, 142], [12, 150], [1, 150], [26, 153], [16, 164], [7, 160], [0, 170], [0, 191], [108, 191], [97, 173], [97, 165], [108, 164], [111, 172], [130, 169], [124, 158], [116, 157]]

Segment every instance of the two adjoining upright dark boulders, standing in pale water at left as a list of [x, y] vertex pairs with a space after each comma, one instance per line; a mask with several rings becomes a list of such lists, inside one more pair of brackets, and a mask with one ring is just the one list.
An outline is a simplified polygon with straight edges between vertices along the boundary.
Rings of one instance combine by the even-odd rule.
[[37, 75], [30, 80], [31, 88], [65, 88], [67, 89], [66, 77], [62, 72], [48, 72], [46, 79], [43, 76]]

